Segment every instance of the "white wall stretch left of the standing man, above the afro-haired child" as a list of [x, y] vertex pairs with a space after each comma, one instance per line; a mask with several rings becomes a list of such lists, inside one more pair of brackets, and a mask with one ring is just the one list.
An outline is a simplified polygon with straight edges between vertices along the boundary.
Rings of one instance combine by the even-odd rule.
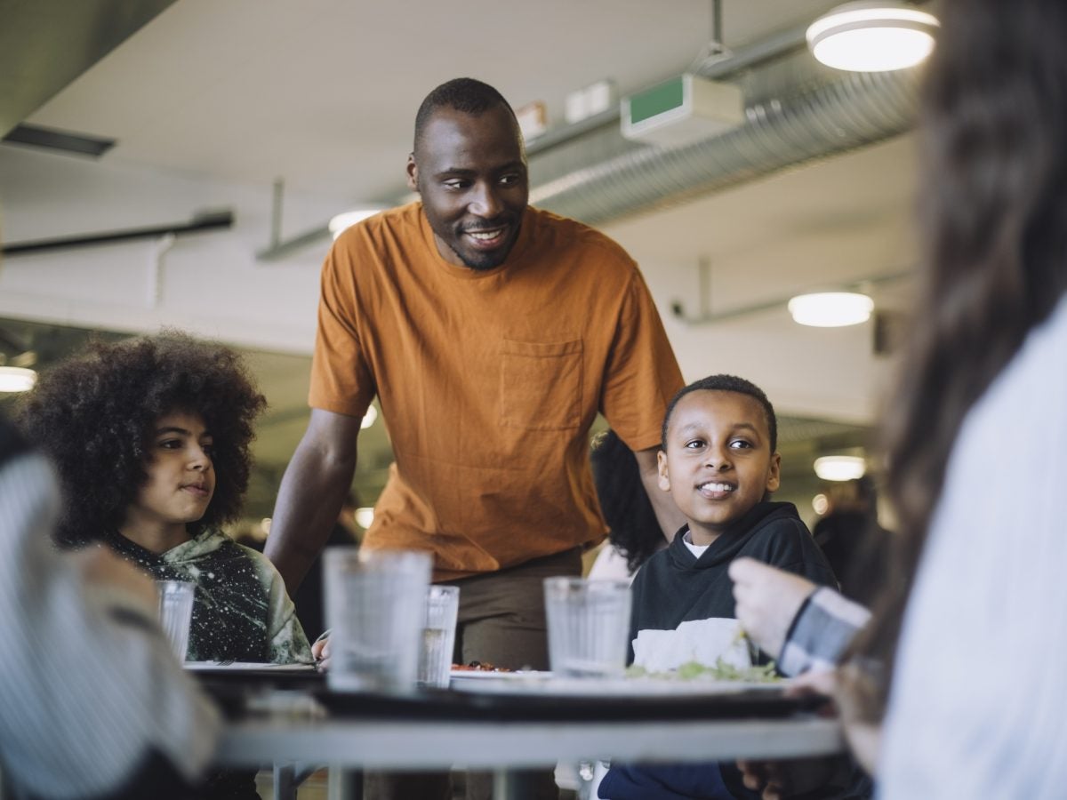
[[[161, 325], [265, 350], [308, 353], [328, 241], [257, 261], [270, 238], [271, 187], [212, 182], [0, 147], [7, 243], [188, 222], [232, 209], [229, 229], [13, 255], [0, 268], [0, 316], [110, 330]], [[283, 239], [322, 225], [345, 204], [286, 197]]]

